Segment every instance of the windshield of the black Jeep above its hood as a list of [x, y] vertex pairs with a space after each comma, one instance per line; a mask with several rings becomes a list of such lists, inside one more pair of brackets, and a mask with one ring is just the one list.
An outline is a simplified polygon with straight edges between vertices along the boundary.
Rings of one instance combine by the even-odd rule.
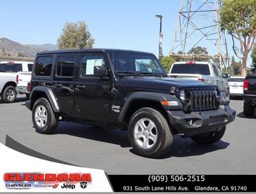
[[147, 75], [165, 75], [165, 70], [153, 54], [132, 51], [109, 51], [115, 72], [139, 72]]

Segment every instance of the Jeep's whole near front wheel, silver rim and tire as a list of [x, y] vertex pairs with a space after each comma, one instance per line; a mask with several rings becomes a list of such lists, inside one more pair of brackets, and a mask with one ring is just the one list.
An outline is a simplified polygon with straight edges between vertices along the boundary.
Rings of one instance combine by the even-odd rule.
[[153, 108], [137, 110], [129, 121], [129, 141], [144, 157], [159, 157], [169, 150], [172, 133], [162, 114]]

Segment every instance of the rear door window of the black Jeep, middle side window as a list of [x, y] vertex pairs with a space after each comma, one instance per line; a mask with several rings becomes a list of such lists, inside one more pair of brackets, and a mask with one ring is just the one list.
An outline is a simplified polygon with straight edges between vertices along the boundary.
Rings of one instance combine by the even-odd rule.
[[75, 67], [75, 56], [59, 56], [57, 76], [73, 77]]

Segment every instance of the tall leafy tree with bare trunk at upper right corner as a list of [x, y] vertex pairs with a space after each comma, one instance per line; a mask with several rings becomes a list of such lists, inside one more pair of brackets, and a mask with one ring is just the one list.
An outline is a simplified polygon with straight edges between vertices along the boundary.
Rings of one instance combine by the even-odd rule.
[[[256, 37], [256, 0], [224, 0], [220, 11], [220, 25], [222, 30], [231, 34], [233, 51], [243, 61], [242, 75], [246, 75], [248, 54]], [[240, 51], [236, 49], [236, 41], [240, 44]]]

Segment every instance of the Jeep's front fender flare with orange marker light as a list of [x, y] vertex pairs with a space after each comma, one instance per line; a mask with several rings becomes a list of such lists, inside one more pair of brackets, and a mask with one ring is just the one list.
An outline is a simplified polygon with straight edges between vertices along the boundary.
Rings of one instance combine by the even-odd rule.
[[118, 121], [122, 122], [124, 121], [124, 117], [127, 114], [127, 110], [129, 110], [130, 105], [132, 105], [133, 101], [136, 100], [149, 100], [149, 101], [176, 101], [177, 105], [162, 105], [163, 108], [166, 110], [182, 110], [183, 105], [179, 101], [179, 99], [176, 96], [173, 96], [169, 93], [160, 93], [160, 92], [151, 92], [151, 91], [136, 91], [132, 93], [128, 98], [127, 101], [125, 101], [124, 106], [120, 112], [120, 115], [118, 116]]

